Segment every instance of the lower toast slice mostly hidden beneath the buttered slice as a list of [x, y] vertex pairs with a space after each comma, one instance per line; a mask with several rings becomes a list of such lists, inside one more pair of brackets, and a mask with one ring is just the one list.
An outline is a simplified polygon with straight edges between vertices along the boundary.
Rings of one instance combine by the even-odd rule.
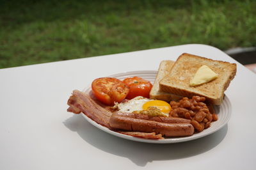
[[158, 68], [156, 79], [154, 81], [154, 85], [149, 94], [150, 98], [164, 100], [166, 102], [170, 102], [171, 100], [179, 100], [180, 98], [182, 98], [180, 96], [173, 95], [172, 93], [159, 91], [159, 81], [161, 81], [161, 79], [163, 79], [163, 77], [165, 77], [166, 75], [170, 74], [174, 63], [175, 62], [171, 60], [161, 61]]

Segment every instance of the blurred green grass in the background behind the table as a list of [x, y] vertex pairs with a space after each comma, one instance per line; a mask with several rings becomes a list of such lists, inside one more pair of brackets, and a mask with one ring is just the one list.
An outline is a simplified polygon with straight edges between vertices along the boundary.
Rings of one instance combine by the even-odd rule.
[[0, 68], [204, 43], [256, 45], [256, 1], [1, 1]]

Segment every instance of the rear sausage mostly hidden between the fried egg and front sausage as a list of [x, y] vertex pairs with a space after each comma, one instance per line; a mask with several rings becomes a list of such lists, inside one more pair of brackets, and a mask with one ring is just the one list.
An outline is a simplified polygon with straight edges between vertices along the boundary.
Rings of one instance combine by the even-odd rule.
[[136, 114], [131, 112], [115, 112], [113, 116], [125, 116], [129, 118], [136, 118], [140, 120], [152, 120], [159, 121], [162, 123], [190, 123], [191, 120], [186, 120], [184, 118], [174, 118], [174, 117], [158, 117], [158, 116], [149, 116], [147, 114]]

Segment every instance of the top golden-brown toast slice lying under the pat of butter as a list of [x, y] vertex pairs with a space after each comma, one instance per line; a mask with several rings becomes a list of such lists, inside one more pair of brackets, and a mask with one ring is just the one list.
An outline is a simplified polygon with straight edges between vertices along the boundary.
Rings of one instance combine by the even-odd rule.
[[[218, 74], [218, 78], [200, 86], [189, 86], [189, 81], [193, 79], [196, 71], [202, 65], [209, 66]], [[159, 88], [161, 91], [184, 97], [199, 95], [207, 98], [212, 104], [220, 105], [223, 101], [224, 91], [235, 75], [236, 64], [184, 53], [179, 56], [170, 74], [159, 82]]]

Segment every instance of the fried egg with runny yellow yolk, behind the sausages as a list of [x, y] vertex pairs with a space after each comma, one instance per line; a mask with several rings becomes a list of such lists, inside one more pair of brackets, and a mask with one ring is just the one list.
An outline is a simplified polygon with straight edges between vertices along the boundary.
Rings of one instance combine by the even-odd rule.
[[171, 106], [163, 100], [152, 100], [144, 97], [135, 97], [127, 102], [122, 102], [115, 105], [119, 112], [134, 112], [134, 111], [145, 111], [148, 107], [156, 107], [164, 115], [168, 116], [171, 111]]

